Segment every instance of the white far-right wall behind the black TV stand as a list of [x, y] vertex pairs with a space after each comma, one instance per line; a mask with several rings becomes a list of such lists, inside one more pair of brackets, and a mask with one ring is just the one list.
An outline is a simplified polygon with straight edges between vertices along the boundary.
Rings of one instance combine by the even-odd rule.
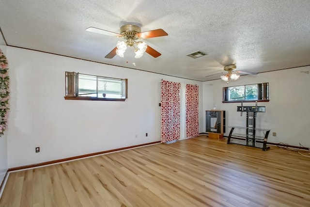
[[[246, 113], [243, 112], [241, 117], [240, 112], [237, 112], [240, 103], [222, 103], [223, 87], [269, 82], [270, 102], [258, 103], [258, 106], [266, 107], [266, 112], [258, 113], [256, 127], [271, 129], [268, 142], [283, 142], [295, 146], [301, 143], [310, 147], [310, 74], [301, 71], [310, 71], [310, 66], [261, 73], [257, 76], [241, 76], [239, 80], [229, 84], [223, 80], [206, 81], [203, 89], [210, 88], [210, 84], [213, 86], [213, 102], [205, 101], [205, 96], [209, 96], [210, 92], [203, 91], [203, 110], [210, 110], [213, 104], [217, 104], [217, 109], [226, 110], [226, 126], [245, 127]], [[255, 106], [255, 103], [244, 105]], [[230, 128], [226, 127], [226, 136], [229, 130]], [[272, 132], [277, 132], [277, 136], [273, 137]]]

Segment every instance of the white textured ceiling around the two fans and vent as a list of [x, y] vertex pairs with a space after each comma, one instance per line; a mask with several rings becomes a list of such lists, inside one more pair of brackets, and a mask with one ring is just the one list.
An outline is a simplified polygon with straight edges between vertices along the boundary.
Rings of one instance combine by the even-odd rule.
[[[9, 46], [214, 80], [227, 64], [256, 73], [310, 65], [309, 11], [310, 0], [1, 0], [0, 28]], [[125, 23], [165, 30], [145, 40], [162, 55], [135, 59], [128, 48], [106, 59], [119, 39], [85, 31], [119, 32]], [[197, 50], [208, 55], [186, 56]]]

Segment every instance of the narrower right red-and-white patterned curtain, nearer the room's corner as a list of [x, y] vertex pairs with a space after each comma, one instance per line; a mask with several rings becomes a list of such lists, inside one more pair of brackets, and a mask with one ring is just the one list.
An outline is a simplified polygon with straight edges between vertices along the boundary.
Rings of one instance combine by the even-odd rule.
[[186, 84], [186, 138], [199, 135], [198, 85]]

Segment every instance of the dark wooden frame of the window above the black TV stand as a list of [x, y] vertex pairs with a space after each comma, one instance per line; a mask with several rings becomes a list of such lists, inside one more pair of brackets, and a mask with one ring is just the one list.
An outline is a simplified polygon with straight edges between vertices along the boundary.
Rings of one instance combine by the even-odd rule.
[[[230, 87], [238, 87], [238, 86], [243, 86], [244, 90], [246, 90], [247, 85], [256, 85], [257, 84], [257, 89], [258, 89], [258, 97], [257, 99], [254, 100], [229, 100], [229, 88]], [[246, 94], [245, 94], [246, 96]], [[260, 98], [260, 99], [259, 99]], [[264, 82], [264, 83], [251, 83], [251, 84], [245, 84], [245, 85], [235, 85], [235, 86], [228, 86], [228, 87], [223, 87], [223, 101], [222, 103], [250, 103], [250, 102], [269, 102], [269, 82]]]

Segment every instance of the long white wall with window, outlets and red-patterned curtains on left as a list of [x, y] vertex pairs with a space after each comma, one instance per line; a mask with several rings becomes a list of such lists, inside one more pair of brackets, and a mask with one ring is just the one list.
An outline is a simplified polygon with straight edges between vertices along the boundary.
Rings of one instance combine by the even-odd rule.
[[[7, 54], [11, 77], [9, 168], [159, 141], [161, 79], [199, 85], [202, 114], [200, 81], [21, 48], [7, 47]], [[64, 100], [65, 71], [127, 78], [128, 99]], [[202, 124], [200, 129], [202, 132]], [[35, 153], [36, 146], [40, 153]]]

